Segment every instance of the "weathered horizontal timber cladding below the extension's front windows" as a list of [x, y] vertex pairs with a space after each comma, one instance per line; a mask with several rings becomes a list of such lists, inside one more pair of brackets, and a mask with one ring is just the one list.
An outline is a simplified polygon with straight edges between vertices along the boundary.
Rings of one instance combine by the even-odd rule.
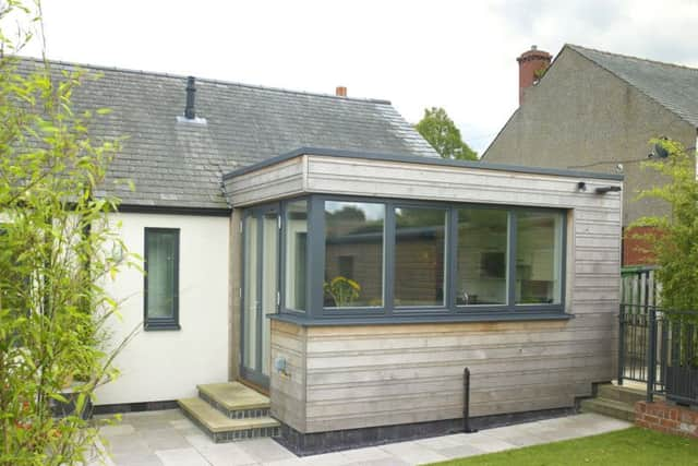
[[[471, 371], [473, 417], [571, 407], [576, 396], [591, 394], [593, 382], [613, 377], [616, 339], [606, 319], [612, 316], [299, 326], [297, 334], [305, 338], [304, 347], [297, 343], [305, 355], [305, 372], [291, 373], [290, 380], [304, 382], [304, 393], [294, 395], [305, 396], [301, 431], [459, 418], [465, 367]], [[277, 335], [285, 339], [288, 332], [273, 330], [273, 351], [281, 355], [282, 345], [274, 342]]]

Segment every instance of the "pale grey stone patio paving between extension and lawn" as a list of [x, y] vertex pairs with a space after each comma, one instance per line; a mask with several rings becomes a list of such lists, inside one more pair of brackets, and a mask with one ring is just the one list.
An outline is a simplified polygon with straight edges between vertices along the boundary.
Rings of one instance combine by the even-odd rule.
[[[99, 417], [97, 417], [99, 418]], [[477, 433], [455, 433], [298, 457], [272, 439], [213, 443], [179, 409], [125, 414], [101, 429], [108, 466], [406, 466], [549, 443], [630, 427], [582, 414]], [[93, 463], [97, 465], [101, 463]]]

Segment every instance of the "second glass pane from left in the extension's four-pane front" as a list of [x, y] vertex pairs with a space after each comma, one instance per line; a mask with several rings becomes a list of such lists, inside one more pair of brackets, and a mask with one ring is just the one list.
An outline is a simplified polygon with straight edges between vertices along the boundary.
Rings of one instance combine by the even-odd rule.
[[395, 306], [444, 306], [446, 210], [395, 208]]

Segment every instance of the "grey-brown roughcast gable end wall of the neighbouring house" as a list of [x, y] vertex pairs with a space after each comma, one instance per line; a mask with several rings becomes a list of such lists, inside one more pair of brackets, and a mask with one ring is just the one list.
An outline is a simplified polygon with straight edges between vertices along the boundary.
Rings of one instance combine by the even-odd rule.
[[[623, 225], [662, 213], [650, 200], [636, 201], [640, 187], [658, 177], [641, 170], [648, 141], [665, 135], [686, 147], [696, 129], [637, 88], [569, 48], [563, 49], [540, 84], [526, 93], [484, 155], [488, 163], [570, 168], [625, 175]], [[594, 165], [591, 165], [594, 164]]]

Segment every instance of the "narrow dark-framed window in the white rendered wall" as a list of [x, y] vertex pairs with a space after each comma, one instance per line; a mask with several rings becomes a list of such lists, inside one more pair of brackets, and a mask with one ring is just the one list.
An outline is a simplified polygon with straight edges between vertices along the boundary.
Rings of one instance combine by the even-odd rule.
[[179, 330], [179, 229], [145, 229], [145, 330]]

